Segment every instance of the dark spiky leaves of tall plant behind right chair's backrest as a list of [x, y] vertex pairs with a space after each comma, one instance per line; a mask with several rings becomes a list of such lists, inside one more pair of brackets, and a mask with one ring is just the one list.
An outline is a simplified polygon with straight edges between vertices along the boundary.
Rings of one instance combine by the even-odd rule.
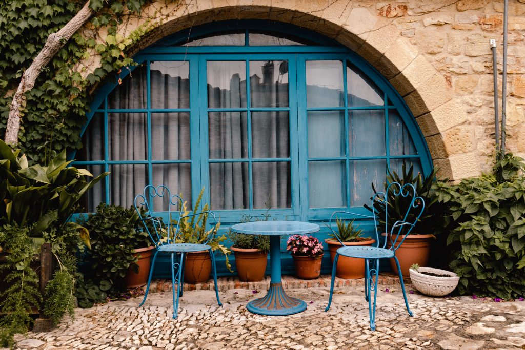
[[[401, 184], [402, 186], [405, 184], [412, 184], [416, 190], [416, 195], [423, 198], [423, 200], [425, 201], [425, 209], [421, 217], [419, 217], [419, 219], [417, 220], [414, 228], [412, 229], [411, 235], [416, 235], [416, 234], [434, 235], [437, 232], [439, 232], [439, 229], [438, 229], [438, 227], [440, 226], [439, 213], [442, 210], [442, 206], [438, 203], [437, 198], [433, 195], [433, 188], [432, 188], [434, 179], [436, 177], [437, 169], [433, 169], [432, 173], [430, 173], [426, 177], [423, 177], [421, 173], [417, 173], [417, 174], [414, 173], [413, 165], [411, 165], [408, 168], [408, 171], [406, 169], [406, 166], [407, 166], [406, 163], [402, 164], [401, 176], [398, 175], [396, 172], [391, 172], [390, 169], [387, 170], [386, 182], [383, 185], [384, 189], [382, 191], [385, 192], [388, 184], [391, 184], [394, 182]], [[378, 192], [375, 189], [374, 184], [372, 184], [372, 189], [374, 193]], [[394, 226], [397, 220], [402, 220], [405, 217], [406, 211], [411, 204], [413, 196], [412, 195], [409, 195], [407, 197], [394, 196], [392, 187], [389, 193], [387, 194], [387, 196], [388, 196], [388, 229], [390, 230]], [[373, 211], [372, 208], [367, 204], [365, 204], [364, 207], [370, 210], [371, 212]], [[384, 205], [378, 203], [374, 207], [375, 207], [377, 218], [379, 218], [379, 222], [381, 222], [381, 224], [384, 225], [386, 222], [386, 213], [385, 213]], [[420, 210], [418, 208], [413, 208], [411, 211], [409, 211], [408, 216], [406, 217], [406, 221], [407, 222], [416, 221], [416, 217], [419, 214], [419, 211]]]

